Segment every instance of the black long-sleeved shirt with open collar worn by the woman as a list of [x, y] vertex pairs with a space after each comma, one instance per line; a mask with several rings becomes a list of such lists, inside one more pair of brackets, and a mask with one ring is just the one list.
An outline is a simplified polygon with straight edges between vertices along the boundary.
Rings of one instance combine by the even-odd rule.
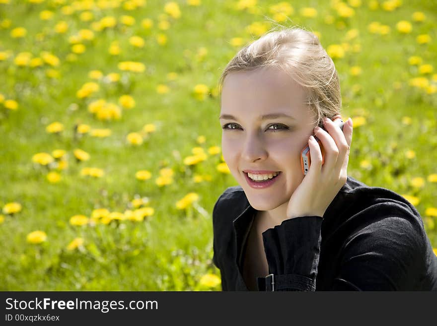
[[[214, 206], [213, 262], [223, 291], [248, 291], [242, 266], [256, 212], [240, 186]], [[273, 277], [257, 277], [260, 291], [437, 290], [437, 257], [416, 208], [352, 177], [323, 217], [284, 220], [262, 238]]]

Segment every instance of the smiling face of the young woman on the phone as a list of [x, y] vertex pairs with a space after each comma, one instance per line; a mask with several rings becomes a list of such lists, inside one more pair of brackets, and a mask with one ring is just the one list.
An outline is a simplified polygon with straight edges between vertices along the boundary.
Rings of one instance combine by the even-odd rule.
[[[288, 203], [304, 177], [300, 152], [316, 126], [305, 101], [304, 89], [277, 68], [232, 72], [225, 78], [219, 118], [223, 158], [257, 210]], [[274, 114], [284, 116], [262, 119]], [[253, 188], [246, 170], [281, 173], [269, 187]]]

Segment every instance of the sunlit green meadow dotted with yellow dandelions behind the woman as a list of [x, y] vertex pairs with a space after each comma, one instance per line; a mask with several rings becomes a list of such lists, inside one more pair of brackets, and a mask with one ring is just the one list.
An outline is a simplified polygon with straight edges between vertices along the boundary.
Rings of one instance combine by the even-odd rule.
[[437, 248], [436, 22], [426, 0], [0, 0], [0, 290], [220, 290], [218, 78], [276, 24], [335, 62], [348, 174]]

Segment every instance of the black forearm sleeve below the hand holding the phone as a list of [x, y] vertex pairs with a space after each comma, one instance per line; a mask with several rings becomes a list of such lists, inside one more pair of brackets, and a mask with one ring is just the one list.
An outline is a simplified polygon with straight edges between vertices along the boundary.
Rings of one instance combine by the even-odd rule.
[[315, 290], [322, 220], [294, 217], [262, 233], [269, 273], [282, 278], [275, 291]]

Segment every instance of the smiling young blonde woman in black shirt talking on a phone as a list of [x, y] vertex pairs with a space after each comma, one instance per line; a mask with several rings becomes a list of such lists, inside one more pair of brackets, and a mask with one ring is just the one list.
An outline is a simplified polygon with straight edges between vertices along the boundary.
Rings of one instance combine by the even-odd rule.
[[222, 290], [437, 290], [415, 207], [347, 175], [353, 124], [335, 123], [340, 83], [314, 34], [264, 35], [219, 85], [223, 157], [239, 184], [213, 211]]

